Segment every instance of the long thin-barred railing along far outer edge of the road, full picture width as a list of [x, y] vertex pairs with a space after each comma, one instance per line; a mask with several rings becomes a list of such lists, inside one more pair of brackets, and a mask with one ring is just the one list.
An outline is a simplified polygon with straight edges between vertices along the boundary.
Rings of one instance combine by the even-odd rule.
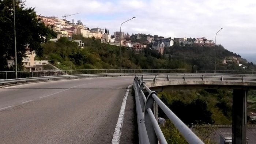
[[[59, 70], [59, 71], [18, 71], [18, 78], [58, 76], [58, 75], [84, 75], [101, 73], [214, 73], [215, 70], [191, 70], [191, 69], [82, 69], [82, 70]], [[224, 71], [217, 70], [222, 74], [256, 74], [256, 71]], [[15, 79], [15, 71], [0, 72], [0, 79]]]

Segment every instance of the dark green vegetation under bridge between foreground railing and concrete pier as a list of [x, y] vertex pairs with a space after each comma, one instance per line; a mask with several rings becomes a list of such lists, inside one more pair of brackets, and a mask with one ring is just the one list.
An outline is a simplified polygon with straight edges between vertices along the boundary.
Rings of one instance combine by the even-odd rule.
[[[173, 90], [159, 92], [158, 95], [185, 124], [231, 123], [230, 90]], [[159, 117], [166, 118], [162, 111], [159, 111]]]

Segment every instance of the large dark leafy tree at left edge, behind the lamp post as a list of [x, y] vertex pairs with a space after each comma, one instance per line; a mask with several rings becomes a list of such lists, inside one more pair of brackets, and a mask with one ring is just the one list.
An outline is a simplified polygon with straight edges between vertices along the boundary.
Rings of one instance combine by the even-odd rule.
[[[14, 9], [13, 1], [0, 0], [0, 71], [13, 70], [8, 62], [14, 59]], [[18, 68], [22, 68], [22, 58], [26, 50], [42, 54], [41, 43], [48, 41], [49, 34], [55, 35], [52, 30], [39, 22], [34, 8], [25, 8], [25, 1], [15, 0], [15, 29]]]

